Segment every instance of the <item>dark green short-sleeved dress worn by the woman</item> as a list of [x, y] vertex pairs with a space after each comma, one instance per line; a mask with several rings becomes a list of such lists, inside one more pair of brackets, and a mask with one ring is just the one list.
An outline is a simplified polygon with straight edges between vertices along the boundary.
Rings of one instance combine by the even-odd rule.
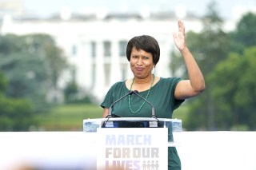
[[[177, 109], [184, 100], [174, 99], [174, 90], [178, 81], [182, 79], [177, 77], [160, 77], [158, 83], [156, 83], [151, 89], [148, 101], [154, 105], [155, 116], [158, 118], [172, 118], [174, 109]], [[102, 108], [110, 108], [110, 105], [117, 101], [119, 98], [126, 95], [129, 89], [126, 87], [125, 81], [119, 81], [111, 86], [108, 93], [106, 93], [105, 100], [102, 102]], [[139, 94], [146, 98], [148, 90], [140, 92]], [[129, 97], [125, 97], [122, 101], [118, 101], [113, 105], [112, 113], [119, 117], [151, 117], [151, 106], [145, 103], [142, 109], [138, 113], [130, 112], [128, 104]], [[137, 111], [144, 101], [132, 94], [130, 95], [130, 106], [133, 111]], [[178, 152], [175, 147], [168, 148], [168, 169], [178, 170], [181, 169], [181, 161], [178, 156]]]

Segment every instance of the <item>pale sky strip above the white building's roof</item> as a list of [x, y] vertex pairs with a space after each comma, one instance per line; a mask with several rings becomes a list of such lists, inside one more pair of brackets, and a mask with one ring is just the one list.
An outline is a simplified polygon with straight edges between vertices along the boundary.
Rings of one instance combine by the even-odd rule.
[[[63, 6], [71, 11], [105, 9], [112, 12], [134, 12], [142, 7], [150, 10], [174, 10], [177, 6], [186, 6], [194, 14], [206, 14], [206, 6], [211, 0], [23, 0], [24, 8], [41, 16], [58, 13]], [[232, 18], [240, 10], [250, 9], [256, 12], [256, 0], [215, 0], [220, 14]], [[235, 10], [236, 9], [236, 10]]]

